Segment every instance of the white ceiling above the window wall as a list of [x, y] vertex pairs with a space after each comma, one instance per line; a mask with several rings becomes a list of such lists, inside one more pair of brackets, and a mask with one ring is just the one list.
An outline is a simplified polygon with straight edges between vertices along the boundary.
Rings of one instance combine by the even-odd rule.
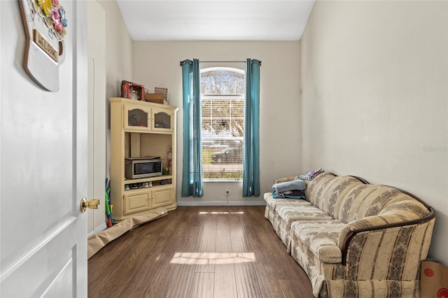
[[134, 41], [298, 41], [314, 0], [116, 0]]

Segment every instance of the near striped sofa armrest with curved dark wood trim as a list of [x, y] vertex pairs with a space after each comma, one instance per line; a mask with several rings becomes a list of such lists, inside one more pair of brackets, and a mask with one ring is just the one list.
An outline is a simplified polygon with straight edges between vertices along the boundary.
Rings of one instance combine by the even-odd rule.
[[[391, 278], [396, 277], [391, 276], [392, 266], [403, 268], [400, 262], [406, 262], [409, 268], [418, 268], [419, 262], [426, 259], [433, 234], [435, 212], [431, 207], [428, 211], [428, 215], [414, 220], [384, 214], [349, 222], [339, 233], [337, 241], [342, 251], [342, 264], [348, 269], [347, 274], [358, 276], [356, 268], [360, 260], [364, 268], [371, 268], [370, 274], [380, 271], [384, 279], [400, 279]], [[381, 225], [381, 222], [387, 223]], [[368, 277], [370, 279], [370, 275]], [[360, 279], [359, 276], [356, 279]]]

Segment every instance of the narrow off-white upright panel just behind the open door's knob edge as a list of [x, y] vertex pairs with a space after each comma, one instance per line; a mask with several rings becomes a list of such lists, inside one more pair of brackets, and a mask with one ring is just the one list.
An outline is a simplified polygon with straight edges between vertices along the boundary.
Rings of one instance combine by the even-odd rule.
[[97, 1], [87, 1], [88, 65], [88, 193], [101, 201], [89, 209], [87, 236], [106, 229], [106, 13]]

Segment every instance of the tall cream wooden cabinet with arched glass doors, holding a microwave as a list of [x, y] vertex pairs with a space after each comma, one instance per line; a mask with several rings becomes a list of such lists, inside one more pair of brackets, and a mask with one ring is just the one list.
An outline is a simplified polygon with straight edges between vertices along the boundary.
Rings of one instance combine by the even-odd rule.
[[[176, 208], [178, 108], [120, 97], [109, 101], [113, 218], [123, 220], [161, 206], [167, 210]], [[171, 172], [147, 178], [125, 178], [125, 159], [139, 157], [160, 157], [162, 168], [169, 167], [171, 157]]]

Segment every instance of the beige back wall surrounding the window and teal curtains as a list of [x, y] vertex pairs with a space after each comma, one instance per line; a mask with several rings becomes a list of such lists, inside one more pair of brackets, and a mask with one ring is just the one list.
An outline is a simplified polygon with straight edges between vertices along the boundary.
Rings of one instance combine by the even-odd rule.
[[[177, 118], [178, 169], [182, 165], [182, 73], [179, 62], [245, 61], [260, 59], [260, 183], [261, 196], [242, 197], [242, 183], [204, 183], [204, 197], [181, 197], [181, 171], [177, 175], [179, 205], [263, 204], [262, 193], [272, 180], [302, 171], [300, 164], [299, 42], [134, 42], [134, 82], [149, 90], [169, 88], [169, 104], [179, 106]], [[220, 64], [222, 66], [222, 64]], [[209, 64], [207, 64], [209, 66]]]

